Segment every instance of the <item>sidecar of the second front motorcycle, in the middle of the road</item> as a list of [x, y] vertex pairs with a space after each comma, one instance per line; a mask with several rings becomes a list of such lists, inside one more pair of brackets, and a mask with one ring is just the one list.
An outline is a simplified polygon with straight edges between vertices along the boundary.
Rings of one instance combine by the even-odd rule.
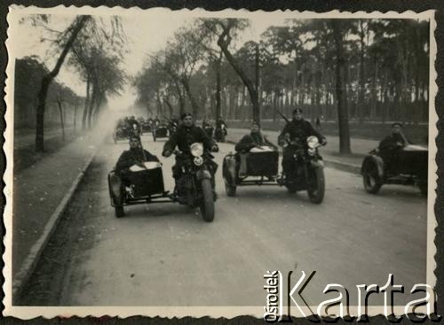
[[226, 186], [226, 195], [234, 197], [237, 186], [279, 185], [279, 152], [270, 147], [253, 148], [247, 155], [247, 174], [240, 175], [242, 153], [229, 153], [224, 158], [222, 174]]

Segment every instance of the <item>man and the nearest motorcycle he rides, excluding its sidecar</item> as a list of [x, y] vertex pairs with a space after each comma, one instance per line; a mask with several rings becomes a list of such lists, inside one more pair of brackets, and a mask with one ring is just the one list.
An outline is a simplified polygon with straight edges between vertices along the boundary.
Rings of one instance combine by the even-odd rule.
[[208, 222], [214, 219], [214, 174], [218, 168], [210, 151], [218, 151], [218, 145], [194, 125], [189, 113], [182, 115], [182, 124], [163, 146], [163, 157], [176, 154], [174, 196], [180, 204], [199, 206]]

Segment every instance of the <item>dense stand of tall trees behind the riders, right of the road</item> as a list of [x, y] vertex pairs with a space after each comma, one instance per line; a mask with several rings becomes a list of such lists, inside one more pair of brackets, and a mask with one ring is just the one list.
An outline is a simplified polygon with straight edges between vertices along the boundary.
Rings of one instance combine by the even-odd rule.
[[[341, 152], [348, 121], [426, 121], [429, 22], [416, 19], [288, 19], [258, 42], [240, 43], [248, 19], [196, 19], [151, 53], [133, 81], [153, 115], [335, 120]], [[348, 140], [347, 140], [348, 139]]]

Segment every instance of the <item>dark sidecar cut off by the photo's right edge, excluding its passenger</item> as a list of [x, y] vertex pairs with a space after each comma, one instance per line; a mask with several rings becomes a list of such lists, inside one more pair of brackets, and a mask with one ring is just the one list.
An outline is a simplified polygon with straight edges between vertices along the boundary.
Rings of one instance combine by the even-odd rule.
[[392, 152], [390, 164], [385, 164], [378, 149], [369, 152], [361, 166], [364, 189], [377, 194], [384, 184], [416, 185], [427, 195], [428, 150], [408, 144]]

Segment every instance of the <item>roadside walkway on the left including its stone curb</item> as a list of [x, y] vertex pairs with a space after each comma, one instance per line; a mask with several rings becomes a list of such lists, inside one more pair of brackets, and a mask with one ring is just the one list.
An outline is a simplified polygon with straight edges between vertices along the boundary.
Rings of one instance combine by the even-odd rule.
[[12, 304], [20, 297], [20, 290], [33, 274], [59, 217], [99, 151], [102, 141], [91, 145], [92, 140], [91, 135], [85, 135], [23, 173], [14, 173], [13, 227], [9, 229], [13, 251], [9, 261]]

